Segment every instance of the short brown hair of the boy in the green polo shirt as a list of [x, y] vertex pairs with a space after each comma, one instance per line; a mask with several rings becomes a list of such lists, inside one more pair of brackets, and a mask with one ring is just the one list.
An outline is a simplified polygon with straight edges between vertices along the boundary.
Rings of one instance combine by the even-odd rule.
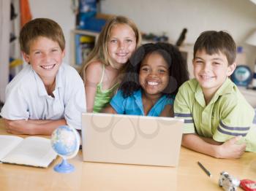
[[236, 42], [225, 31], [204, 31], [194, 45], [194, 58], [197, 51], [206, 50], [209, 55], [222, 52], [227, 57], [228, 65], [236, 60]]

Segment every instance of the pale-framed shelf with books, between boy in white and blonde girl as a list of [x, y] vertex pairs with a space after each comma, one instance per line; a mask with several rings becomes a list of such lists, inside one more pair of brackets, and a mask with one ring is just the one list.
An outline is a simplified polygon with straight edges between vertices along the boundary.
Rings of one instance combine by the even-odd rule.
[[77, 70], [80, 70], [83, 61], [86, 60], [87, 56], [94, 48], [98, 36], [99, 33], [94, 31], [77, 29], [71, 31], [71, 66]]

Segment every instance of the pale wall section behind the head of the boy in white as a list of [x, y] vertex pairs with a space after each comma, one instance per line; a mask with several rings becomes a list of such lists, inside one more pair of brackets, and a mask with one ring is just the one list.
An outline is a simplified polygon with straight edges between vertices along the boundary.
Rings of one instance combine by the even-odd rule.
[[75, 15], [72, 12], [71, 0], [29, 0], [33, 18], [47, 17], [61, 26], [66, 39], [66, 56], [64, 61], [70, 62], [70, 31], [75, 28]]

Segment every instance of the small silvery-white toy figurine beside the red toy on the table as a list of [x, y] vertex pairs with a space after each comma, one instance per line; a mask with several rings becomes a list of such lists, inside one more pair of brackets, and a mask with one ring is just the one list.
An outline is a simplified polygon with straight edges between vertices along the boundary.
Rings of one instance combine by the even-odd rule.
[[239, 186], [240, 180], [236, 179], [236, 177], [228, 174], [223, 171], [220, 174], [219, 178], [219, 186], [222, 187], [225, 191], [236, 191], [236, 188]]

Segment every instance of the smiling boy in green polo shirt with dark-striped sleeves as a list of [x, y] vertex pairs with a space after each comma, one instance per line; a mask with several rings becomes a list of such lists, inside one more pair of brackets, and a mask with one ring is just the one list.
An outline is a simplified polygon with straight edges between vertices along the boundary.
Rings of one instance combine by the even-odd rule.
[[256, 152], [254, 109], [228, 77], [236, 69], [236, 43], [224, 31], [205, 31], [194, 46], [195, 79], [185, 82], [174, 102], [184, 119], [182, 145], [217, 158]]

